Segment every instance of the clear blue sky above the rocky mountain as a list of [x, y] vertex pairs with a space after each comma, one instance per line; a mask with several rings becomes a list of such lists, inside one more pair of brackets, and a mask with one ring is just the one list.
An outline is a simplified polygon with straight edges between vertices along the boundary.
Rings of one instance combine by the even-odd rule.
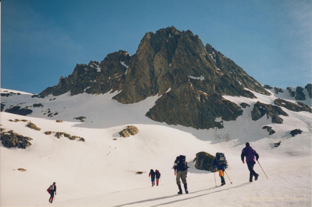
[[146, 32], [174, 26], [261, 84], [311, 83], [311, 0], [2, 0], [1, 88], [40, 93], [77, 63], [133, 55]]

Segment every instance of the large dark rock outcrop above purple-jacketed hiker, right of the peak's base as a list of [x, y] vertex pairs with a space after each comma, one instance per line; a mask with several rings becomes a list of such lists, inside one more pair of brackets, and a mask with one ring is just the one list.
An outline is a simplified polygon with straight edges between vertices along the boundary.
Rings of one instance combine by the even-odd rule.
[[272, 123], [282, 124], [283, 119], [280, 117], [288, 116], [288, 114], [283, 111], [279, 106], [273, 106], [271, 104], [264, 104], [260, 101], [254, 105], [253, 110], [251, 111], [251, 119], [253, 121], [257, 121], [258, 119], [262, 118], [266, 114], [267, 119], [271, 117]]

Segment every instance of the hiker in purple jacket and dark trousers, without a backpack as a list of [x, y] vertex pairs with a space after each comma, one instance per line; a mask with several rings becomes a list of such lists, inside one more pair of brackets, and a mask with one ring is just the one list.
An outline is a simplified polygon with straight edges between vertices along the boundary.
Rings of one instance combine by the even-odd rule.
[[257, 174], [255, 170], [253, 170], [253, 166], [256, 164], [256, 160], [259, 159], [259, 155], [258, 153], [256, 153], [254, 149], [252, 149], [252, 147], [248, 142], [246, 142], [246, 147], [241, 151], [241, 161], [243, 161], [243, 164], [245, 164], [244, 162], [245, 156], [248, 170], [250, 171], [249, 182], [252, 182], [252, 176], [255, 176], [255, 180], [258, 180], [259, 174]]

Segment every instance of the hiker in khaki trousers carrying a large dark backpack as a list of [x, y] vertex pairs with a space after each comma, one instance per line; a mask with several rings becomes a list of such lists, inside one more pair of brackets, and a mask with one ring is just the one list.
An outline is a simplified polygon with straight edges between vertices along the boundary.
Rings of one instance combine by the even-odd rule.
[[181, 182], [184, 185], [185, 193], [188, 194], [188, 184], [186, 182], [186, 174], [188, 170], [188, 162], [185, 161], [186, 157], [184, 155], [180, 155], [176, 158], [173, 164], [174, 175], [176, 175], [176, 181], [179, 188], [178, 194], [182, 194]]

